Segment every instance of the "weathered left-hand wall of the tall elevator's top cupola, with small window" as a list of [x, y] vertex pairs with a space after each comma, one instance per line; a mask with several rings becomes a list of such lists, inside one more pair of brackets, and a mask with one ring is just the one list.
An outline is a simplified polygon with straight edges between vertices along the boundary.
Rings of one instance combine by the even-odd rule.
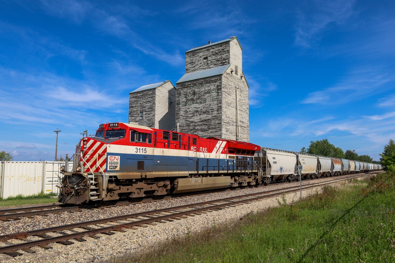
[[[204, 57], [208, 57], [207, 62], [203, 62]], [[229, 64], [229, 42], [220, 43], [185, 54], [185, 73], [207, 70], [208, 68], [215, 68], [227, 64]]]

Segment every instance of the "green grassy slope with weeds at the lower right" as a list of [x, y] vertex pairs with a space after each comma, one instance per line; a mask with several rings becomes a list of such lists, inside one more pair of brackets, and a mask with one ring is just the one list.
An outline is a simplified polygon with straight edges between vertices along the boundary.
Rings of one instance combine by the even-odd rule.
[[[395, 262], [394, 176], [188, 233], [112, 262]], [[166, 227], [166, 225], [164, 225]]]

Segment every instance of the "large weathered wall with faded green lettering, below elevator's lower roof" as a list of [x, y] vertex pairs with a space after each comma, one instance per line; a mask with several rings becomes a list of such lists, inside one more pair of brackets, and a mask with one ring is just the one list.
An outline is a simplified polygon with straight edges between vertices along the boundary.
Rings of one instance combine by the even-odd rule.
[[221, 76], [177, 85], [177, 122], [184, 133], [221, 137]]

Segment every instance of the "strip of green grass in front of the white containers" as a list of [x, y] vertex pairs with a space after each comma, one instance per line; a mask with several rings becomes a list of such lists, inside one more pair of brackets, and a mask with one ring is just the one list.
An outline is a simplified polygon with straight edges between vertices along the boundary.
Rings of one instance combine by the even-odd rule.
[[0, 207], [32, 205], [32, 204], [48, 204], [57, 203], [58, 199], [53, 198], [56, 193], [38, 193], [34, 195], [17, 195], [8, 198], [0, 198]]

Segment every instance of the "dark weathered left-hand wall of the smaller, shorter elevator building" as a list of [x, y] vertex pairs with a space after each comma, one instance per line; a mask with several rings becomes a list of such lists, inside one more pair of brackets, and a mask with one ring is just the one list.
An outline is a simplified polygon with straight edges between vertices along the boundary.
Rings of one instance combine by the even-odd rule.
[[[140, 112], [143, 120], [140, 120]], [[129, 122], [154, 128], [155, 125], [155, 89], [129, 94]]]

